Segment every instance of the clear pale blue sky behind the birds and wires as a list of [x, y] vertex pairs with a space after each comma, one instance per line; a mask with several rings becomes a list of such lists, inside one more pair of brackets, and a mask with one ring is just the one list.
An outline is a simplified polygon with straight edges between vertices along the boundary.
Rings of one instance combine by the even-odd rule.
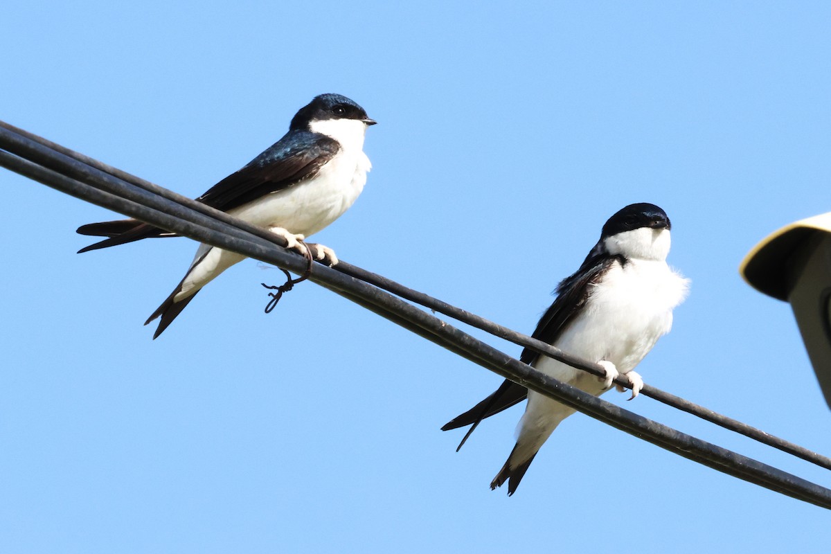
[[[639, 372], [831, 453], [789, 306], [737, 272], [831, 209], [828, 3], [227, 3], [12, 2], [0, 119], [196, 196], [312, 96], [350, 96], [375, 167], [319, 242], [526, 332], [609, 215], [656, 203], [692, 292]], [[0, 187], [2, 552], [828, 552], [829, 512], [579, 414], [513, 498], [491, 492], [522, 409], [460, 453], [439, 428], [498, 376], [311, 283], [266, 316], [282, 274], [253, 261], [151, 341], [194, 243], [78, 255], [111, 213]]]

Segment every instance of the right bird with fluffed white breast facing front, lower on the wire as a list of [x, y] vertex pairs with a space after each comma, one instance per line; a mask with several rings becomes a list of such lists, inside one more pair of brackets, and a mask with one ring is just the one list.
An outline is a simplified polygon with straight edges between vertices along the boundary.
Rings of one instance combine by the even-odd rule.
[[[585, 360], [596, 361], [606, 378], [540, 355], [526, 348], [520, 360], [543, 373], [602, 395], [618, 375], [632, 385], [632, 398], [643, 387], [633, 371], [656, 341], [670, 331], [672, 309], [681, 304], [689, 280], [666, 265], [670, 250], [670, 219], [651, 203], [634, 203], [612, 215], [600, 240], [583, 265], [557, 287], [557, 298], [537, 324], [534, 338]], [[491, 490], [508, 481], [514, 494], [540, 447], [574, 409], [547, 396], [505, 380], [492, 395], [441, 429], [472, 427], [528, 397], [517, 426], [517, 441], [493, 482]], [[632, 400], [632, 399], [630, 399]]]

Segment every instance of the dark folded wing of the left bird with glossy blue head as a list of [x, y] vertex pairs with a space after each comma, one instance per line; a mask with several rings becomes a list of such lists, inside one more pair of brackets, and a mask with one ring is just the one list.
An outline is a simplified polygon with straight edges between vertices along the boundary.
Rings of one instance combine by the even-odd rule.
[[[339, 149], [337, 141], [326, 135], [310, 131], [289, 131], [282, 139], [248, 162], [243, 169], [214, 184], [197, 200], [227, 212], [266, 194], [288, 189], [293, 184], [312, 178]], [[108, 237], [100, 243], [81, 248], [79, 252], [132, 243], [143, 238], [176, 236], [175, 233], [136, 219], [89, 223], [79, 227], [77, 233]]]

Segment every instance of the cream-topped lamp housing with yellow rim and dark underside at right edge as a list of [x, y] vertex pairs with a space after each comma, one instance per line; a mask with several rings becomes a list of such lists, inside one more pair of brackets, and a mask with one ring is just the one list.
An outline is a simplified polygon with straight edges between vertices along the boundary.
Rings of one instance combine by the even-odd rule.
[[739, 271], [759, 292], [790, 302], [831, 407], [831, 213], [771, 234], [745, 256]]

